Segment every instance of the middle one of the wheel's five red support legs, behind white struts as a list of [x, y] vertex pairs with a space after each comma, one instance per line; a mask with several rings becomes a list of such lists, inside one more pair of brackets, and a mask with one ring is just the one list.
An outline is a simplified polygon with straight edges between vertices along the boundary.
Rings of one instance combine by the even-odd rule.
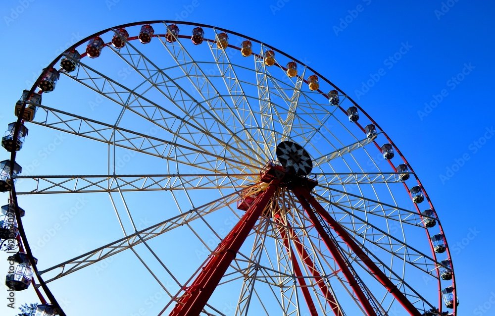
[[[274, 216], [275, 222], [277, 222], [277, 220], [278, 220], [277, 217], [279, 217], [277, 215]], [[336, 304], [337, 300], [335, 299], [335, 297], [333, 296], [332, 292], [329, 290], [329, 288], [325, 284], [325, 281], [321, 277], [320, 272], [316, 269], [316, 266], [314, 265], [313, 261], [311, 260], [311, 257], [309, 256], [309, 254], [307, 253], [306, 249], [304, 248], [304, 246], [300, 242], [299, 237], [297, 237], [297, 235], [296, 235], [296, 233], [294, 231], [294, 228], [288, 227], [288, 230], [289, 230], [289, 236], [292, 239], [294, 245], [296, 246], [297, 254], [299, 255], [299, 258], [301, 258], [302, 262], [304, 264], [306, 264], [306, 266], [309, 269], [310, 273], [313, 275], [314, 280], [316, 281], [316, 284], [318, 284], [318, 287], [320, 288], [320, 291], [325, 296], [325, 299], [326, 299], [328, 305], [330, 306], [330, 308], [332, 309], [332, 311], [334, 312], [334, 314], [336, 316], [343, 316], [342, 310]], [[281, 230], [281, 234], [282, 234], [282, 238], [284, 238], [284, 241], [285, 241], [285, 235], [286, 235], [285, 230], [282, 229]], [[296, 261], [296, 260], [293, 259], [293, 261]], [[297, 263], [297, 261], [296, 261], [296, 263]], [[297, 271], [295, 271], [295, 272], [296, 272], [296, 275], [297, 275]], [[310, 309], [310, 311], [311, 311], [311, 309]]]

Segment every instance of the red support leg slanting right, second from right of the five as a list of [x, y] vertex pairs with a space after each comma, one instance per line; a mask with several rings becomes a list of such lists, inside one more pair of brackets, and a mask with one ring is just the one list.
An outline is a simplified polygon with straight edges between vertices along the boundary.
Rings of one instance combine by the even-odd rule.
[[328, 250], [332, 254], [332, 257], [334, 258], [335, 262], [339, 265], [340, 269], [342, 270], [342, 273], [344, 274], [344, 276], [347, 279], [347, 282], [349, 283], [350, 287], [352, 288], [352, 290], [356, 294], [357, 299], [361, 303], [362, 307], [366, 311], [366, 314], [368, 314], [369, 316], [377, 316], [375, 310], [373, 309], [370, 302], [368, 301], [368, 298], [366, 297], [366, 295], [364, 295], [363, 290], [361, 289], [361, 287], [357, 283], [356, 279], [354, 278], [354, 275], [349, 270], [347, 263], [344, 261], [344, 259], [341, 256], [341, 253], [339, 252], [339, 250], [335, 246], [333, 240], [331, 240], [330, 236], [328, 236], [328, 234], [325, 232], [325, 229], [320, 224], [320, 221], [316, 217], [316, 214], [313, 212], [313, 210], [309, 206], [304, 195], [302, 194], [302, 191], [307, 192], [306, 189], [300, 188], [300, 187], [296, 187], [293, 189], [293, 192], [296, 194], [296, 197], [299, 200], [299, 203], [301, 204], [304, 211], [306, 211], [306, 213], [308, 214], [309, 219], [313, 223], [316, 231], [318, 232], [321, 239], [323, 240], [323, 242], [327, 246]]

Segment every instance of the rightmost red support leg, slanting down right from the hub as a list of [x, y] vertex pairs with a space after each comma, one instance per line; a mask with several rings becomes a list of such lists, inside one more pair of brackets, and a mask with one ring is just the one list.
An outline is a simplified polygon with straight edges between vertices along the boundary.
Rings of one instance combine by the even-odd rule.
[[[404, 296], [402, 292], [396, 287], [396, 285], [385, 275], [385, 273], [366, 255], [361, 247], [356, 244], [354, 239], [347, 233], [347, 231], [332, 217], [330, 214], [315, 200], [315, 198], [305, 188], [297, 187], [294, 193], [300, 200], [304, 200], [320, 214], [323, 219], [332, 227], [332, 229], [339, 235], [342, 240], [349, 246], [349, 248], [357, 255], [357, 257], [364, 263], [376, 279], [396, 298], [397, 302], [404, 307], [409, 315], [421, 316], [421, 313], [414, 307], [414, 305]], [[307, 202], [306, 202], [307, 201]], [[302, 204], [302, 203], [301, 203]], [[314, 214], [313, 214], [314, 215]]]

